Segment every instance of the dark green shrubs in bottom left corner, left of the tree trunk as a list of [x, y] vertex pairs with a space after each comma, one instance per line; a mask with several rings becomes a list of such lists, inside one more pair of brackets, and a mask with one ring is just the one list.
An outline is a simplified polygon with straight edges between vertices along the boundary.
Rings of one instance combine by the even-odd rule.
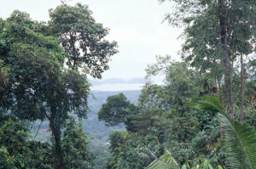
[[1, 115], [0, 168], [52, 168], [52, 155], [48, 143], [28, 141], [26, 121]]

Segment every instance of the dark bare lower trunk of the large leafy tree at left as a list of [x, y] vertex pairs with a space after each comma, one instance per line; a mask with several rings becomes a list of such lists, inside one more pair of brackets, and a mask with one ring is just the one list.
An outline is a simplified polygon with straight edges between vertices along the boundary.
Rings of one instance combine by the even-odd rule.
[[49, 127], [52, 132], [52, 136], [55, 140], [55, 168], [64, 169], [64, 166], [62, 165], [61, 160], [61, 129], [56, 127], [55, 124], [55, 112], [56, 108], [52, 107], [50, 108], [51, 115], [49, 119]]

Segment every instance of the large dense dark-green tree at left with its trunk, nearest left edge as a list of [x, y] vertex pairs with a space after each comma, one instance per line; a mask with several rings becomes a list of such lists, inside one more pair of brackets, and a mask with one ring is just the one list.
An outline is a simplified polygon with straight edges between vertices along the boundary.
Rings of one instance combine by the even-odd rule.
[[69, 113], [86, 118], [90, 94], [86, 74], [64, 67], [66, 55], [55, 37], [44, 36], [50, 30], [44, 23], [34, 22], [20, 11], [0, 21], [0, 59], [9, 66], [1, 109], [18, 119], [49, 120], [55, 168], [64, 168], [61, 128]]

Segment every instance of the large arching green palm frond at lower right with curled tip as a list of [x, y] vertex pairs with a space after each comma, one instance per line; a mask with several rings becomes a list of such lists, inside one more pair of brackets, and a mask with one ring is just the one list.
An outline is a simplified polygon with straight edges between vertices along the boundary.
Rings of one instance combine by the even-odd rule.
[[190, 106], [198, 110], [219, 112], [227, 143], [227, 168], [256, 168], [256, 131], [253, 127], [230, 120], [230, 116], [221, 109], [218, 99], [212, 96], [197, 98]]

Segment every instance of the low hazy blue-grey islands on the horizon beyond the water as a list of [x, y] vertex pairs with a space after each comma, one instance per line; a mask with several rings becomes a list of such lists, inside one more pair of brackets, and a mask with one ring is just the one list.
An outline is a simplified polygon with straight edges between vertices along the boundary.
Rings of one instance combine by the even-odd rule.
[[[142, 83], [146, 83], [147, 80], [145, 80], [144, 78], [133, 78], [130, 81], [126, 82], [122, 79], [119, 78], [111, 78], [111, 79], [107, 79], [104, 81], [101, 80], [91, 80], [89, 79], [89, 82], [92, 86], [96, 86], [96, 85], [102, 85], [102, 84], [142, 84]], [[154, 83], [154, 82], [152, 82]]]

